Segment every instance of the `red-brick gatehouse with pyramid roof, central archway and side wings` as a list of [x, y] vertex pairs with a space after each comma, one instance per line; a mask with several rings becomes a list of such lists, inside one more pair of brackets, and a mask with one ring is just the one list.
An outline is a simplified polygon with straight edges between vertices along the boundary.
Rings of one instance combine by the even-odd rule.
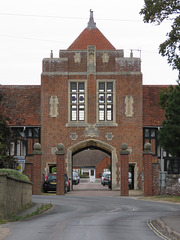
[[[152, 144], [153, 162], [161, 157], [159, 92], [166, 86], [142, 84], [141, 59], [133, 57], [133, 52], [124, 57], [124, 51], [116, 49], [96, 27], [92, 11], [76, 40], [60, 50], [58, 58], [51, 51], [42, 69], [40, 86], [0, 86], [2, 110], [18, 136], [11, 154], [31, 162], [32, 147], [40, 142], [43, 178], [56, 164], [57, 144], [63, 143], [65, 171], [70, 177], [75, 156], [100, 150], [110, 159], [112, 189], [116, 189], [121, 176], [120, 146], [125, 142], [132, 187], [137, 189], [144, 143]], [[84, 165], [87, 159], [88, 154], [83, 156]]]

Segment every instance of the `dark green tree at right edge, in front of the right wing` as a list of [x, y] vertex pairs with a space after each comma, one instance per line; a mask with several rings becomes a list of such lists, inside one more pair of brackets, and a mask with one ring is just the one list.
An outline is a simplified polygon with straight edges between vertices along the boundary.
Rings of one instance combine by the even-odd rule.
[[180, 157], [180, 82], [161, 91], [160, 105], [165, 110], [160, 145], [172, 156]]

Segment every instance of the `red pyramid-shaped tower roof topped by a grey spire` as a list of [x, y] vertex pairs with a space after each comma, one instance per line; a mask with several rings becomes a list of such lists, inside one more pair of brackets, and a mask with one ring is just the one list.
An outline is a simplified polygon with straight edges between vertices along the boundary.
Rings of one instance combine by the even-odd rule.
[[82, 31], [67, 50], [87, 50], [88, 45], [95, 45], [98, 50], [115, 50], [115, 47], [96, 27], [92, 10], [90, 10], [90, 19], [87, 28]]

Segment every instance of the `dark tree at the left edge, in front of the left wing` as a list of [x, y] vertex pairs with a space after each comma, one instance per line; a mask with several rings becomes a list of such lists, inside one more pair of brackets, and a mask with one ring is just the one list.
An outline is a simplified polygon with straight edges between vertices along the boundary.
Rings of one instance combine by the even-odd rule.
[[[2, 103], [2, 99], [3, 94], [0, 92], [0, 103]], [[15, 137], [8, 125], [8, 121], [8, 117], [4, 116], [0, 111], [0, 168], [13, 168], [14, 163], [13, 156], [10, 156], [9, 153]]]

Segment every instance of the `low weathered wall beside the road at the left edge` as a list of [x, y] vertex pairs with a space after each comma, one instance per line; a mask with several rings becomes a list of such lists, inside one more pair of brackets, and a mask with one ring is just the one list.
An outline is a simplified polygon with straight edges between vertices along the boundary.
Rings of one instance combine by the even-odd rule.
[[15, 215], [22, 206], [32, 202], [32, 183], [0, 174], [0, 218]]

